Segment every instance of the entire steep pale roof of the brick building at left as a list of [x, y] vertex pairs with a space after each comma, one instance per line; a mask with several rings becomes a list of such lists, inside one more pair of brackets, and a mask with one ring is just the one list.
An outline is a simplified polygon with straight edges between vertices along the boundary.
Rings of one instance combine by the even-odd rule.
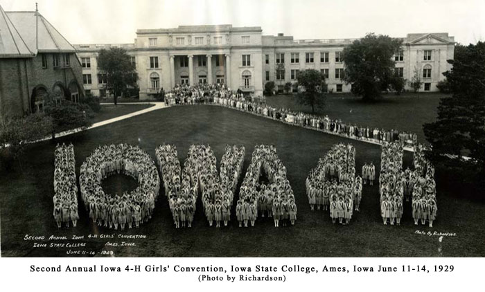
[[0, 57], [75, 52], [76, 48], [39, 12], [5, 12], [0, 7]]

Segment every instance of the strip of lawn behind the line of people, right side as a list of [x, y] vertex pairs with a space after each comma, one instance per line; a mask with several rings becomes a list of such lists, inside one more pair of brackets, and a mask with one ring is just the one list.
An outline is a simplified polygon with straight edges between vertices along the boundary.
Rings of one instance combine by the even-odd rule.
[[[319, 115], [362, 126], [411, 131], [418, 135], [421, 143], [425, 143], [423, 124], [436, 120], [442, 96], [442, 93], [419, 93], [419, 96], [415, 93], [387, 94], [382, 100], [368, 103], [349, 93], [331, 93], [327, 95], [326, 106]], [[293, 95], [270, 96], [266, 100], [273, 107], [312, 112], [311, 107], [302, 106]]]

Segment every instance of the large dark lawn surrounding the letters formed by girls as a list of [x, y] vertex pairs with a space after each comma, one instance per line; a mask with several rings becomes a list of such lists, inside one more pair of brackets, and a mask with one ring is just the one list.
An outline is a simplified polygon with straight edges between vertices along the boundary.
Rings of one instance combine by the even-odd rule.
[[[349, 102], [352, 104], [352, 102]], [[364, 108], [364, 106], [362, 106]], [[368, 108], [370, 109], [370, 107]], [[335, 115], [332, 115], [335, 116]], [[342, 116], [344, 118], [344, 116]], [[373, 118], [375, 120], [376, 118]], [[398, 125], [407, 120], [398, 119]], [[226, 144], [244, 145], [244, 172], [256, 144], [273, 144], [288, 170], [288, 179], [298, 206], [295, 226], [274, 228], [270, 219], [258, 219], [253, 228], [238, 228], [234, 206], [230, 226], [209, 227], [197, 202], [193, 228], [175, 229], [168, 202], [162, 193], [154, 217], [136, 230], [114, 231], [98, 228], [88, 221], [80, 201], [77, 228], [58, 230], [53, 220], [53, 164], [55, 143], [29, 145], [20, 165], [11, 172], [0, 172], [0, 214], [2, 256], [66, 256], [69, 248], [33, 248], [25, 235], [146, 235], [132, 239], [134, 247], [105, 247], [106, 241], [121, 239], [85, 239], [87, 249], [114, 250], [116, 256], [137, 257], [476, 257], [485, 256], [484, 203], [460, 199], [440, 188], [438, 182], [438, 219], [434, 228], [414, 226], [411, 208], [405, 206], [401, 226], [383, 226], [380, 218], [378, 186], [364, 186], [361, 212], [355, 212], [349, 226], [333, 225], [328, 212], [311, 212], [305, 194], [305, 179], [334, 143], [353, 143], [356, 166], [373, 161], [379, 173], [380, 147], [340, 138], [309, 129], [252, 116], [214, 106], [170, 107], [111, 125], [58, 139], [72, 142], [76, 152], [76, 172], [82, 161], [98, 145], [132, 143], [146, 149], [155, 161], [155, 147], [161, 143], [177, 145], [183, 161], [191, 143], [209, 143], [218, 163]], [[57, 142], [56, 142], [57, 143]], [[405, 154], [405, 166], [411, 154]], [[243, 174], [244, 176], [244, 174]], [[440, 176], [436, 172], [436, 176]], [[134, 188], [132, 179], [113, 176], [112, 192]], [[242, 178], [240, 179], [241, 183]], [[79, 199], [80, 200], [80, 199]], [[416, 230], [455, 232], [456, 237], [418, 235]], [[61, 241], [64, 242], [64, 241]], [[49, 242], [48, 242], [49, 243]], [[75, 249], [75, 248], [74, 248]]]

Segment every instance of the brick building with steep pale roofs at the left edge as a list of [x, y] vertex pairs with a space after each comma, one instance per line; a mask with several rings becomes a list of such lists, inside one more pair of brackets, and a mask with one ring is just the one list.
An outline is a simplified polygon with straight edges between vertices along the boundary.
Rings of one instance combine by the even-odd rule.
[[40, 13], [0, 6], [0, 116], [42, 110], [48, 100], [77, 101], [76, 49]]

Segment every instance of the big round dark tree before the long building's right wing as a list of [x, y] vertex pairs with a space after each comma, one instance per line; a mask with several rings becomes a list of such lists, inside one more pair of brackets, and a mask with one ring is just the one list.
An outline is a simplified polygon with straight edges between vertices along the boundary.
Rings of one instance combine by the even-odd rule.
[[403, 88], [403, 77], [394, 74], [394, 54], [400, 50], [402, 40], [387, 35], [370, 33], [344, 48], [343, 80], [352, 84], [352, 93], [363, 100], [373, 100], [382, 91]]

